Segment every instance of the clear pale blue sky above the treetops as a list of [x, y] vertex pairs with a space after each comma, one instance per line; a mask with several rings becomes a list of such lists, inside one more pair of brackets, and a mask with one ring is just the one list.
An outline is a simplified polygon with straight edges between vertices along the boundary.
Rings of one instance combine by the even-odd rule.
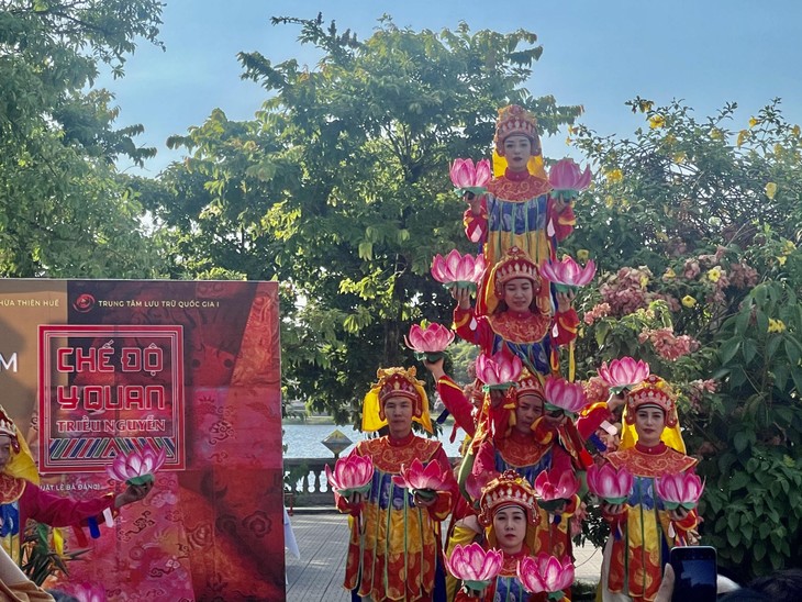
[[[544, 52], [530, 90], [584, 105], [581, 122], [604, 135], [631, 136], [643, 123], [624, 107], [637, 94], [658, 104], [683, 99], [699, 119], [735, 101], [734, 129], [746, 127], [751, 114], [780, 97], [787, 118], [802, 123], [799, 0], [166, 0], [160, 35], [166, 52], [143, 42], [123, 79], [103, 76], [97, 82], [116, 96], [116, 124], [142, 123], [145, 134], [137, 143], [157, 147], [143, 174], [156, 176], [180, 159], [165, 141], [202, 124], [213, 109], [233, 120], [253, 118], [266, 93], [240, 79], [238, 52], [258, 51], [275, 63], [296, 57], [313, 68], [313, 51], [297, 41], [300, 27], [269, 20], [312, 19], [318, 12], [360, 40], [382, 14], [415, 30], [454, 29], [465, 21], [472, 31], [534, 32]], [[544, 140], [545, 155], [566, 155], [565, 137]]]

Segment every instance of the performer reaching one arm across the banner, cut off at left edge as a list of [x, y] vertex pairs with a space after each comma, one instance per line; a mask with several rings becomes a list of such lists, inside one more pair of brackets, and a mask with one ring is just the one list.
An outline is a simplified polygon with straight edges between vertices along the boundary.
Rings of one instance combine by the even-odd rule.
[[[74, 501], [43, 491], [38, 481], [36, 465], [25, 438], [0, 406], [0, 538], [4, 551], [18, 564], [23, 560], [20, 543], [29, 519], [55, 527], [71, 526], [78, 538], [86, 540], [81, 531], [83, 526], [97, 529], [103, 521], [104, 511], [114, 515], [121, 506], [145, 498], [153, 487], [152, 482], [129, 486], [116, 495], [107, 493], [96, 500]], [[5, 582], [5, 586], [9, 583]], [[35, 588], [33, 583], [24, 587]], [[25, 594], [32, 600], [49, 599], [35, 598], [38, 595], [35, 591], [25, 591]]]

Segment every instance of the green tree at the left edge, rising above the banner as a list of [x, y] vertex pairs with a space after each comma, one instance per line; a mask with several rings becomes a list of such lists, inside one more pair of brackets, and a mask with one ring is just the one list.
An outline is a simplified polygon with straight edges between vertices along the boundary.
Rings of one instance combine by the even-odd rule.
[[143, 210], [113, 161], [137, 163], [141, 126], [113, 130], [99, 64], [122, 75], [143, 37], [158, 43], [156, 0], [0, 1], [0, 275], [151, 276]]

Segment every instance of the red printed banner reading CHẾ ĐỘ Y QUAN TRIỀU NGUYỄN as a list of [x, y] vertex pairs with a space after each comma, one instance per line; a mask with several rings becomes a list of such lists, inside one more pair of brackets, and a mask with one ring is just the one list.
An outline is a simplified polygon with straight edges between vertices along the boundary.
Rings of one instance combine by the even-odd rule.
[[276, 282], [2, 280], [0, 386], [45, 491], [119, 493], [119, 453], [167, 454], [151, 494], [51, 586], [283, 600]]

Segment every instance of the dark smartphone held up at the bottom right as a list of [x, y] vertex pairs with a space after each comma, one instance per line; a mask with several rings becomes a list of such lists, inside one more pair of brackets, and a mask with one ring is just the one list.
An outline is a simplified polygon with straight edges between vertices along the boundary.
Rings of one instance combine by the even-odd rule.
[[678, 546], [671, 548], [670, 561], [675, 575], [672, 601], [715, 602], [715, 548]]

